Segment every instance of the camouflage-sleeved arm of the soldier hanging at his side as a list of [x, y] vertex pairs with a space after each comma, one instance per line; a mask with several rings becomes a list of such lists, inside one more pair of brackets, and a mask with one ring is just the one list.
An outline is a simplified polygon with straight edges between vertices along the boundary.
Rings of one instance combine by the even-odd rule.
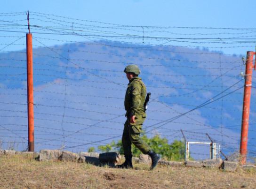
[[142, 90], [141, 84], [137, 83], [137, 82], [134, 82], [134, 84], [132, 86], [132, 92], [131, 92], [131, 95], [132, 95], [132, 98], [131, 98], [132, 106], [131, 106], [131, 109], [130, 109], [130, 113], [131, 113], [132, 116], [135, 115], [136, 110], [140, 106], [140, 103], [141, 103], [141, 90]]

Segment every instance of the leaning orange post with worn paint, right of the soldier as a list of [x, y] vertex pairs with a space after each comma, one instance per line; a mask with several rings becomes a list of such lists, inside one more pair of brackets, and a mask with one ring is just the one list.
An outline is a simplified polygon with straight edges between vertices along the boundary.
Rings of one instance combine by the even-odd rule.
[[249, 127], [249, 113], [250, 113], [250, 99], [251, 99], [251, 86], [252, 86], [252, 69], [253, 69], [253, 55], [252, 51], [247, 52], [246, 71], [245, 71], [245, 85], [244, 85], [244, 100], [243, 100], [243, 115], [240, 139], [240, 155], [241, 164], [246, 164], [247, 155], [247, 139]]

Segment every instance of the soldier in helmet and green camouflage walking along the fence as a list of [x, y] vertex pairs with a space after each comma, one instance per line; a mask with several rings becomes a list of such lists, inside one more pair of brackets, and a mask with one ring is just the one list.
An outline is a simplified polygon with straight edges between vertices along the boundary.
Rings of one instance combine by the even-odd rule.
[[125, 162], [118, 165], [119, 168], [133, 168], [132, 166], [132, 144], [134, 144], [142, 153], [148, 154], [152, 159], [153, 169], [159, 159], [160, 154], [152, 151], [151, 147], [141, 139], [142, 124], [145, 121], [145, 97], [146, 86], [142, 79], [138, 77], [140, 69], [136, 65], [129, 65], [124, 69], [127, 79], [129, 80], [128, 88], [125, 94], [124, 106], [127, 120], [124, 124], [122, 144], [124, 149]]

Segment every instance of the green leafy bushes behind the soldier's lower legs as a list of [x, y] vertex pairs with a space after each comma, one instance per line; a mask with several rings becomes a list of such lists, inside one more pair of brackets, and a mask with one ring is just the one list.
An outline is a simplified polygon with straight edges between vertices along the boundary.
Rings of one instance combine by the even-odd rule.
[[[163, 159], [169, 161], [182, 161], [185, 159], [184, 141], [175, 140], [172, 144], [168, 144], [168, 140], [165, 137], [161, 138], [159, 135], [148, 138], [146, 134], [143, 133], [141, 137], [156, 153], [160, 153], [163, 156]], [[89, 148], [89, 150], [92, 149]], [[124, 153], [121, 140], [118, 140], [117, 143], [112, 141], [110, 144], [99, 145], [98, 150], [101, 152], [117, 151], [120, 154]], [[138, 157], [141, 154], [141, 151], [134, 145], [132, 152], [134, 157]]]

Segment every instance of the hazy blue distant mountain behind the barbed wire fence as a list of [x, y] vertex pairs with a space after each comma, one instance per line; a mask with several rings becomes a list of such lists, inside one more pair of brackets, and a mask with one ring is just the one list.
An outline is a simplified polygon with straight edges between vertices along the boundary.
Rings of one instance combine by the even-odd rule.
[[[221, 144], [239, 150], [245, 66], [240, 57], [177, 46], [97, 41], [33, 49], [35, 150], [87, 151], [120, 140], [129, 64], [141, 68], [151, 92], [148, 136]], [[0, 53], [2, 148], [27, 147], [26, 53]], [[253, 78], [253, 82], [255, 77]], [[256, 152], [252, 88], [248, 156]], [[223, 97], [223, 98], [222, 98]], [[206, 104], [204, 104], [206, 103]], [[208, 158], [209, 146], [192, 145]]]

